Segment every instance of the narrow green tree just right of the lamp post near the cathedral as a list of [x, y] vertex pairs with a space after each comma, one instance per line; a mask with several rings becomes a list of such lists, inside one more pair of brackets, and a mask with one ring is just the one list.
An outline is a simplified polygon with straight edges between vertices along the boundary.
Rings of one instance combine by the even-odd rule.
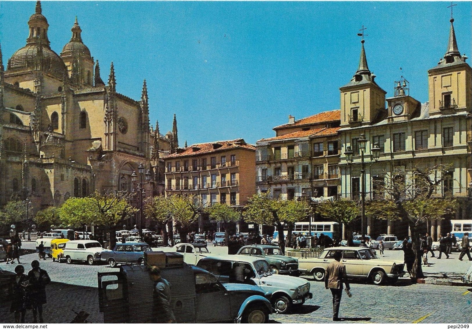
[[[167, 246], [169, 241], [167, 225], [172, 221], [169, 198], [162, 195], [148, 197], [145, 200], [143, 212], [146, 218], [161, 226], [162, 240], [164, 246]], [[173, 234], [173, 232], [169, 233]]]

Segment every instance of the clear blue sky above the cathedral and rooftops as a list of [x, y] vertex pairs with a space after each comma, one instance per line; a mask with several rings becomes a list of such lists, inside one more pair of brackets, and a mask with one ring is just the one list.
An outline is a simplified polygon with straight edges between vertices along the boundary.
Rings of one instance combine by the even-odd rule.
[[[51, 48], [82, 39], [108, 81], [133, 99], [148, 82], [151, 123], [161, 133], [177, 114], [179, 142], [244, 138], [339, 108], [339, 87], [355, 73], [362, 25], [376, 82], [392, 96], [401, 74], [428, 100], [427, 70], [444, 56], [447, 2], [43, 1]], [[25, 45], [34, 2], [0, 1], [3, 62]], [[454, 8], [459, 51], [471, 53], [471, 3]], [[467, 60], [469, 62], [470, 60]], [[400, 67], [403, 71], [400, 72]]]

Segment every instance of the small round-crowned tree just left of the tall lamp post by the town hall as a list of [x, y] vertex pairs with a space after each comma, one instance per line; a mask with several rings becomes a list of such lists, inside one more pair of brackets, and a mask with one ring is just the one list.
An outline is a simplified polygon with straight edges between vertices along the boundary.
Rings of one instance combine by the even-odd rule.
[[325, 218], [344, 224], [346, 227], [347, 245], [353, 246], [351, 224], [360, 215], [358, 203], [348, 199], [327, 200], [317, 204], [316, 211]]

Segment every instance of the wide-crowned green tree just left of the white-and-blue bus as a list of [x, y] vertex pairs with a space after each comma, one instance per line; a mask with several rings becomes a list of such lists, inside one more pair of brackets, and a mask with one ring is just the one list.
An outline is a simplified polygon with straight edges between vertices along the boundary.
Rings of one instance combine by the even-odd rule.
[[270, 192], [266, 192], [255, 194], [248, 200], [244, 218], [246, 222], [275, 226], [278, 244], [285, 253], [284, 225], [303, 221], [310, 212], [310, 205], [306, 201], [272, 199]]

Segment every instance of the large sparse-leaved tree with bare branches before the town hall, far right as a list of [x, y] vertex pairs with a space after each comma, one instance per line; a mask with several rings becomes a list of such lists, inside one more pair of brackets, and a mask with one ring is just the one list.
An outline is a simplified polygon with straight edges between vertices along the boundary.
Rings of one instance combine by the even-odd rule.
[[424, 277], [421, 269], [421, 235], [427, 222], [454, 211], [457, 200], [442, 193], [449, 165], [398, 169], [385, 173], [387, 183], [380, 188], [381, 200], [369, 205], [368, 212], [379, 218], [400, 220], [409, 225], [416, 255], [413, 278]]

